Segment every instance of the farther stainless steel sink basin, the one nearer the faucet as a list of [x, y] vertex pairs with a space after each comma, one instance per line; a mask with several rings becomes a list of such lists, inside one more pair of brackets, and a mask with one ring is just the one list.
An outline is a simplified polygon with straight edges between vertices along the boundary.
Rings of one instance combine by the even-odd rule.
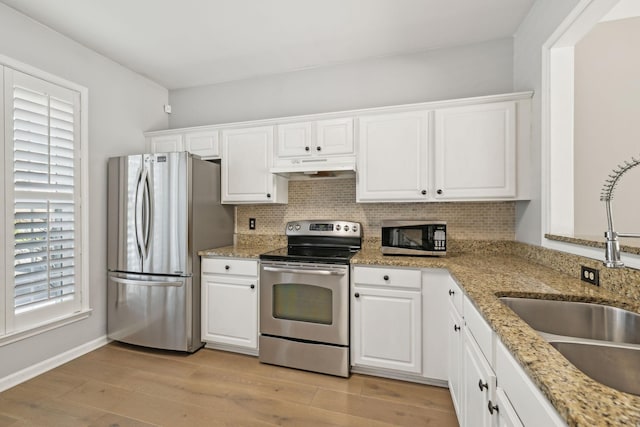
[[640, 314], [631, 311], [573, 301], [511, 297], [500, 300], [538, 332], [640, 344]]

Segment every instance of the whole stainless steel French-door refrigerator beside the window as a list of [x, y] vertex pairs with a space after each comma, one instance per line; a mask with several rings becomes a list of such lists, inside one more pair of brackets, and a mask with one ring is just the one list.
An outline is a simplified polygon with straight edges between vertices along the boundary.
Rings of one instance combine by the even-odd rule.
[[107, 335], [129, 344], [200, 347], [202, 249], [233, 241], [220, 165], [188, 153], [109, 159]]

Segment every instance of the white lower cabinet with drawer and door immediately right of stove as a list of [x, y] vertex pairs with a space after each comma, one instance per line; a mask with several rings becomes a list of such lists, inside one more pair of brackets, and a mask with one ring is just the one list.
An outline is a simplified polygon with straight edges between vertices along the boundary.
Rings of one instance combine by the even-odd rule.
[[420, 374], [420, 270], [354, 267], [353, 278], [352, 364]]

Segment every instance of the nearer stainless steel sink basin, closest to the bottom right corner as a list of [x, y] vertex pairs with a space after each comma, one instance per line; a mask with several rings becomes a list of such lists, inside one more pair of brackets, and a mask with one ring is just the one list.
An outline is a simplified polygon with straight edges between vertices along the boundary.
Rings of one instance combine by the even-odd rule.
[[593, 342], [550, 341], [564, 357], [592, 379], [640, 395], [640, 348]]

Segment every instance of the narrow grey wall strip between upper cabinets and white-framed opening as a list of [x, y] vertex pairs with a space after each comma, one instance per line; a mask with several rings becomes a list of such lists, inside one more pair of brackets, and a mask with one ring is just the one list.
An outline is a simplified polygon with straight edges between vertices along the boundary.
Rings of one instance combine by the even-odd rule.
[[516, 31], [513, 43], [513, 89], [533, 90], [531, 117], [532, 200], [516, 205], [516, 240], [540, 245], [542, 45], [578, 4], [578, 0], [537, 0]]

